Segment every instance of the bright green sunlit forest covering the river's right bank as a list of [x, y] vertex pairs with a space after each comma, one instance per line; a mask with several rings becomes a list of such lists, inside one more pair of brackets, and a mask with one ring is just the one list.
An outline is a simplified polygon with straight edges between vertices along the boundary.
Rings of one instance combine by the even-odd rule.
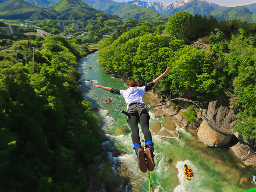
[[[180, 95], [196, 90], [205, 103], [224, 91], [230, 98], [238, 124], [235, 131], [256, 143], [256, 37], [255, 24], [241, 20], [221, 21], [176, 12], [165, 31], [154, 33], [149, 26], [137, 26], [116, 40], [100, 42], [100, 65], [111, 73], [149, 83], [168, 66], [168, 76], [155, 86], [160, 94]], [[210, 44], [210, 50], [190, 45], [197, 38]]]

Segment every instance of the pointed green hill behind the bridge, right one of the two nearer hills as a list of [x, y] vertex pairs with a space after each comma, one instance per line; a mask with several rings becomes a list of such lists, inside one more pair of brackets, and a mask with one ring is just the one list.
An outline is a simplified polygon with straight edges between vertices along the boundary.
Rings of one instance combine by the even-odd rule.
[[96, 19], [98, 16], [107, 19], [118, 18], [118, 16], [97, 10], [82, 0], [61, 0], [51, 6], [50, 10], [58, 12], [57, 20], [89, 20]]

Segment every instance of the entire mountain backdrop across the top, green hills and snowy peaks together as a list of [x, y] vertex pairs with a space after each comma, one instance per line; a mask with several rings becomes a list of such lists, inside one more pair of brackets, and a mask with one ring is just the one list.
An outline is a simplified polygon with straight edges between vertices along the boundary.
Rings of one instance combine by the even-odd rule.
[[[246, 6], [225, 7], [206, 0], [179, 0], [173, 3], [133, 0], [0, 0], [0, 19], [72, 19], [136, 18], [167, 21], [175, 12], [214, 16], [220, 20], [242, 19], [256, 22], [256, 3]], [[49, 7], [46, 7], [49, 6]]]

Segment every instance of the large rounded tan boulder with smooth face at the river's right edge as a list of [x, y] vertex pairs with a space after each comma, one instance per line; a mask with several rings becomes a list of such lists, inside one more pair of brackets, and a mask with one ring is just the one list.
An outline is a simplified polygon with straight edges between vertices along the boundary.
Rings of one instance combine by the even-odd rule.
[[202, 121], [197, 132], [198, 139], [210, 147], [222, 147], [228, 144], [234, 135], [225, 136], [212, 129], [205, 121]]

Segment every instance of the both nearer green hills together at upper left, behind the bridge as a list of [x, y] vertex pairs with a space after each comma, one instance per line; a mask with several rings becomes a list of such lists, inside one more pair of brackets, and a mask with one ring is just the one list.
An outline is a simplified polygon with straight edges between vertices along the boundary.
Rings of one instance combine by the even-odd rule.
[[82, 0], [61, 0], [49, 8], [41, 8], [23, 0], [9, 0], [0, 4], [0, 18], [44, 20], [90, 20], [102, 16], [106, 19], [119, 18], [92, 8]]

